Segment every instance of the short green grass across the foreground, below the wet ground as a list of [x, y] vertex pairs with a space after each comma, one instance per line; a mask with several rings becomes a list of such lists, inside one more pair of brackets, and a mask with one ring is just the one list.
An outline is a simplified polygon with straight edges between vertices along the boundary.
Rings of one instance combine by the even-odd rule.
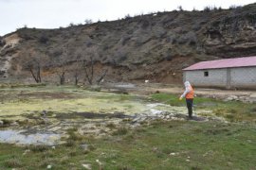
[[[0, 169], [253, 169], [256, 127], [216, 122], [155, 121], [118, 136], [44, 149], [0, 144]], [[84, 139], [82, 139], [84, 140]], [[82, 151], [80, 144], [94, 149]], [[25, 151], [30, 149], [24, 155]], [[35, 163], [37, 162], [37, 163]]]

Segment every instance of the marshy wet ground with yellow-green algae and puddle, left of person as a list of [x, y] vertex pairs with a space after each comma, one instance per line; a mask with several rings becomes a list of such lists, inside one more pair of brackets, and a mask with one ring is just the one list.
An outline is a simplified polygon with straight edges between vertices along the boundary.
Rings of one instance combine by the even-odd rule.
[[[2, 143], [60, 144], [72, 127], [82, 135], [101, 137], [119, 127], [133, 128], [155, 119], [188, 120], [186, 107], [155, 103], [139, 94], [90, 92], [76, 87], [2, 89], [0, 94]], [[200, 111], [210, 112], [196, 110], [193, 121], [208, 121]]]

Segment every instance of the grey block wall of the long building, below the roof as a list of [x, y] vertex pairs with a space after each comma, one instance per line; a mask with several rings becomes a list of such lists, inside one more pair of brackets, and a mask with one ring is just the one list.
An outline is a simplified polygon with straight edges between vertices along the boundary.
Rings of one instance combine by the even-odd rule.
[[256, 67], [185, 71], [183, 80], [201, 87], [256, 89]]

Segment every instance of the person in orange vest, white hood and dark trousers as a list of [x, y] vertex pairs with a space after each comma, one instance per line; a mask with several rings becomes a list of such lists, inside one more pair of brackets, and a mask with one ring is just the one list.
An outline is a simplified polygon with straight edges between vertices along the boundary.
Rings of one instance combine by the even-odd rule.
[[179, 100], [182, 100], [183, 97], [186, 98], [189, 118], [192, 119], [192, 102], [193, 102], [193, 89], [189, 81], [184, 82], [185, 91], [179, 97]]

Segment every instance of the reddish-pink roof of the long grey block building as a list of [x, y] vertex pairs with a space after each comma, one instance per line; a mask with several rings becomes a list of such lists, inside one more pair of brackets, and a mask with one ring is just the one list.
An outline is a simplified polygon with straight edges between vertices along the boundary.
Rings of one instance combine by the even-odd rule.
[[256, 66], [256, 56], [247, 58], [235, 58], [235, 59], [217, 59], [202, 61], [193, 64], [183, 70], [203, 70], [203, 69], [218, 69], [229, 67], [249, 67]]

